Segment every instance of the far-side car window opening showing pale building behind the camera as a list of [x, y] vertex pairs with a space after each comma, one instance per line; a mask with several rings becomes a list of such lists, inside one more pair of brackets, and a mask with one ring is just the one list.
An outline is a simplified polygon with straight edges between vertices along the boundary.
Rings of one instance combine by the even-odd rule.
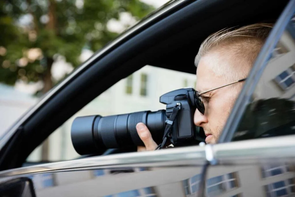
[[195, 83], [195, 74], [144, 66], [114, 84], [68, 119], [29, 155], [27, 162], [54, 162], [80, 157], [71, 141], [71, 125], [78, 116], [108, 116], [165, 109], [166, 105], [159, 102], [161, 95], [183, 87], [195, 87]]

